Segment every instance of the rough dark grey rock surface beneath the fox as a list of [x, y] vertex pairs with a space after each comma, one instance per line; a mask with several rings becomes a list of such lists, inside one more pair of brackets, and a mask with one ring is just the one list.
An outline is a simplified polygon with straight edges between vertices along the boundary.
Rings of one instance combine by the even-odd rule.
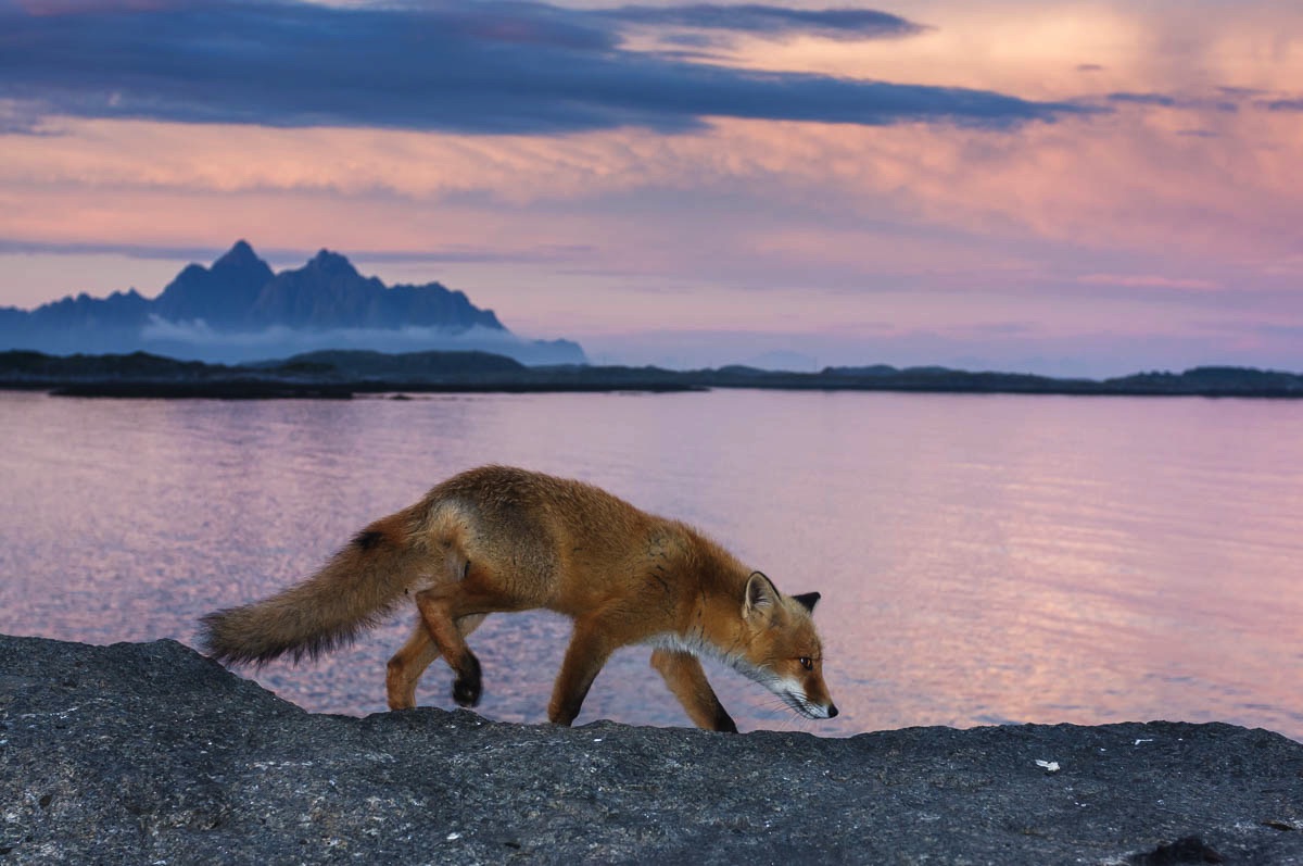
[[169, 640], [0, 635], [0, 810], [17, 863], [1303, 863], [1303, 745], [353, 719]]

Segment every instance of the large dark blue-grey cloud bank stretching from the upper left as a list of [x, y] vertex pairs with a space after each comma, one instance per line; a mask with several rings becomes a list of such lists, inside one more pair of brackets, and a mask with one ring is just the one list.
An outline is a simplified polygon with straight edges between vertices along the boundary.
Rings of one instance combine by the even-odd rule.
[[[1092, 111], [649, 55], [623, 46], [628, 22], [619, 14], [542, 3], [132, 7], [86, 3], [73, 13], [29, 14], [0, 0], [0, 99], [81, 117], [534, 134], [623, 125], [678, 132], [715, 116], [1007, 128]], [[624, 14], [635, 14], [629, 9], [638, 7]], [[713, 9], [663, 13], [702, 21]], [[804, 21], [797, 10], [744, 9], [751, 27]]]

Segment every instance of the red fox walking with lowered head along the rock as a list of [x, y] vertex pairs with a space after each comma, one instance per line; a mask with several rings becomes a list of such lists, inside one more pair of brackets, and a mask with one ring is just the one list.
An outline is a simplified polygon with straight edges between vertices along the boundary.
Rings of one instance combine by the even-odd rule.
[[466, 635], [490, 613], [546, 608], [575, 621], [549, 719], [569, 725], [610, 655], [649, 644], [652, 666], [701, 728], [736, 732], [698, 656], [722, 660], [809, 719], [838, 715], [810, 620], [817, 592], [786, 596], [692, 527], [581, 481], [486, 466], [371, 523], [302, 583], [202, 618], [219, 661], [296, 661], [341, 646], [400, 603], [418, 617], [390, 659], [391, 709], [440, 655], [452, 696], [480, 700]]

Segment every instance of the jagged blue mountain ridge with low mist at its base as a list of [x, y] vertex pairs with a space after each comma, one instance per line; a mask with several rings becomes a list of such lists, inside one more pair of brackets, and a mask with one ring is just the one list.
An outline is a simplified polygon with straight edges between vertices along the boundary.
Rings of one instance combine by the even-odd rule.
[[322, 249], [274, 273], [248, 241], [210, 267], [188, 265], [154, 300], [136, 290], [78, 295], [35, 310], [0, 308], [0, 348], [53, 353], [150, 351], [248, 361], [326, 348], [491, 351], [526, 364], [584, 363], [568, 340], [530, 342], [442, 283], [386, 286]]

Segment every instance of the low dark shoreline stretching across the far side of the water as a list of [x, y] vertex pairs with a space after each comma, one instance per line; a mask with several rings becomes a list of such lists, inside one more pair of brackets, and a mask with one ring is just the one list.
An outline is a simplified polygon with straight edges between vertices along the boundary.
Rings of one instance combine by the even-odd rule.
[[364, 394], [684, 393], [715, 389], [1042, 394], [1055, 396], [1303, 398], [1303, 376], [1207, 366], [1110, 380], [972, 373], [937, 366], [826, 368], [817, 373], [723, 366], [524, 366], [485, 352], [330, 351], [228, 366], [133, 355], [0, 352], [0, 389], [56, 396], [154, 399], [351, 399]]

